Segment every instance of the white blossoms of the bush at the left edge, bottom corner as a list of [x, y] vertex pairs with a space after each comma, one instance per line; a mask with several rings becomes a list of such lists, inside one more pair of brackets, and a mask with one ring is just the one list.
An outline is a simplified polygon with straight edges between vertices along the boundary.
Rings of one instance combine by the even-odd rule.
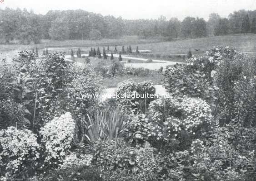
[[[35, 134], [30, 130], [19, 130], [15, 127], [0, 130], [0, 165], [4, 165], [6, 170], [18, 172], [24, 167], [23, 162], [35, 161], [40, 157]], [[36, 163], [35, 163], [36, 164]]]

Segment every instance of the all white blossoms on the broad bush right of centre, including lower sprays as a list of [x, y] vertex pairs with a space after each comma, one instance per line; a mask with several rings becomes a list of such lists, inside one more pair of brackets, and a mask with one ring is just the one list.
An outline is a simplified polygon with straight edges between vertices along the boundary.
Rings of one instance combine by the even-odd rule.
[[[154, 131], [152, 135], [157, 135], [157, 140], [161, 138], [167, 140], [172, 135], [176, 138], [181, 130], [195, 134], [196, 128], [201, 125], [208, 127], [212, 124], [210, 105], [199, 98], [154, 100], [150, 104], [149, 111], [155, 125], [152, 127]], [[181, 116], [175, 117], [176, 113]]]

